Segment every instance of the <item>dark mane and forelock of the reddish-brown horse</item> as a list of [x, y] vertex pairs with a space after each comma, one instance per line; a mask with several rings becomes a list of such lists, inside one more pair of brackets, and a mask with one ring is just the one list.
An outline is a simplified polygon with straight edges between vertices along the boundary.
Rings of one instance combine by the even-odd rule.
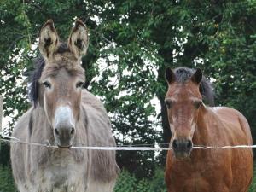
[[[195, 73], [195, 69], [188, 67], [178, 67], [174, 69], [174, 73], [176, 75], [176, 80], [183, 83], [191, 78], [191, 76]], [[200, 92], [202, 96], [207, 98], [209, 105], [214, 106], [214, 93], [212, 84], [208, 79], [206, 79], [205, 76], [203, 76], [201, 79]]]

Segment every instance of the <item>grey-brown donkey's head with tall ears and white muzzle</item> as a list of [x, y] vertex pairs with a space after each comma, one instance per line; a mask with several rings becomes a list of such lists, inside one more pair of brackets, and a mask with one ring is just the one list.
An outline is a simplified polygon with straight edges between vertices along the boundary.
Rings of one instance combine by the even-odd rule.
[[80, 62], [88, 48], [86, 27], [81, 20], [76, 20], [64, 44], [59, 41], [53, 21], [48, 20], [41, 29], [38, 47], [45, 62], [38, 79], [39, 102], [53, 128], [55, 143], [68, 148], [76, 133], [85, 80]]

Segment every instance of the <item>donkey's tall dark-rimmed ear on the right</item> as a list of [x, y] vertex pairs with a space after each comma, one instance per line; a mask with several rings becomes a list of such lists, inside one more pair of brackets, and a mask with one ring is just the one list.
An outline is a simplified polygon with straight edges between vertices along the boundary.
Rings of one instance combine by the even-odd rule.
[[82, 20], [76, 20], [75, 26], [68, 38], [68, 48], [79, 59], [88, 49], [87, 29]]

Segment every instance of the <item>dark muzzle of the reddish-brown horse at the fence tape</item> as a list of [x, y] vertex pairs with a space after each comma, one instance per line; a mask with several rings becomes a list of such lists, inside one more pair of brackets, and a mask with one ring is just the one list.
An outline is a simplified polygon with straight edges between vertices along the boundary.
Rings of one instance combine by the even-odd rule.
[[177, 159], [183, 160], [189, 158], [193, 147], [191, 140], [174, 139], [172, 141], [172, 149]]

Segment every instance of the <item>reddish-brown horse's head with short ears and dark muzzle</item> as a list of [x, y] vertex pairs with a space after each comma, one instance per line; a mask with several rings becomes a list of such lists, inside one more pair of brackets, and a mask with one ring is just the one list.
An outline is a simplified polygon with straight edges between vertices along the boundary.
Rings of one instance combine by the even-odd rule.
[[165, 102], [172, 131], [172, 149], [179, 159], [188, 158], [193, 147], [192, 138], [202, 105], [202, 78], [201, 69], [166, 69], [168, 91]]

